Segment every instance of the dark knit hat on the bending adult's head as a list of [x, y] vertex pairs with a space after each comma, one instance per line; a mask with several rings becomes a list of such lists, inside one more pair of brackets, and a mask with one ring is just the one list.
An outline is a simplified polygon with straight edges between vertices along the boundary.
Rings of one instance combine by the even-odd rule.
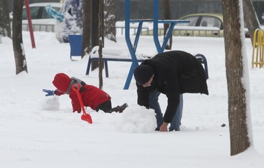
[[134, 77], [136, 83], [139, 85], [143, 85], [147, 83], [147, 81], [150, 80], [153, 74], [154, 71], [152, 67], [147, 64], [141, 64], [138, 67], [136, 67], [136, 69], [134, 69]]

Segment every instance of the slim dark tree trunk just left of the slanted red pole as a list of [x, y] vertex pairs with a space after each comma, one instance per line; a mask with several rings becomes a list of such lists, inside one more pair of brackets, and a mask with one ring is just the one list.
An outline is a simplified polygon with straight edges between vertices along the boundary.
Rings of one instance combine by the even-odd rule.
[[13, 3], [13, 50], [14, 50], [14, 60], [16, 62], [16, 74], [22, 71], [27, 72], [27, 62], [25, 60], [25, 49], [23, 45], [22, 38], [22, 11], [23, 2], [21, 0], [14, 0]]

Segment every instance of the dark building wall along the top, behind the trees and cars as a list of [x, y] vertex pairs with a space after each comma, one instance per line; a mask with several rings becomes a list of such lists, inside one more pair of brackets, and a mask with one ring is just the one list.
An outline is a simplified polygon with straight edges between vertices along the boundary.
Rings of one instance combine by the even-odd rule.
[[[36, 2], [60, 2], [60, 0], [29, 0], [29, 3]], [[91, 0], [84, 0], [91, 1]], [[125, 0], [116, 1], [116, 19], [117, 21], [125, 20]], [[10, 12], [12, 11], [13, 0], [9, 2]], [[163, 10], [161, 8], [162, 0], [159, 0], [159, 14], [160, 19], [163, 18]], [[200, 12], [222, 12], [221, 0], [171, 0], [171, 19], [179, 19], [180, 17]], [[264, 21], [261, 19], [264, 13], [264, 0], [254, 0], [254, 8], [260, 23]], [[148, 19], [152, 18], [153, 14], [153, 0], [130, 0], [130, 18], [131, 19]]]

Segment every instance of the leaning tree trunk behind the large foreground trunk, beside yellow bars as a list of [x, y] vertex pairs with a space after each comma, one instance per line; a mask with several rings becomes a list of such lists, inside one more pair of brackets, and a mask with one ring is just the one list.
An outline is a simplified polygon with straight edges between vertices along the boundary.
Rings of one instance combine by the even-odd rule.
[[259, 24], [259, 19], [256, 16], [256, 11], [251, 0], [243, 0], [243, 11], [245, 16], [245, 23], [247, 23], [248, 32], [250, 33], [251, 43], [253, 45], [254, 41], [254, 31], [255, 29], [261, 27]]

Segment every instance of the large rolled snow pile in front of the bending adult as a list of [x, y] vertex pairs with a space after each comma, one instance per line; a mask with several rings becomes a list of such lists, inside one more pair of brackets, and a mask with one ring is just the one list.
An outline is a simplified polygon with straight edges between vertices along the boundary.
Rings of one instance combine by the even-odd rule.
[[153, 132], [156, 127], [155, 112], [143, 106], [133, 105], [120, 114], [115, 122], [119, 132], [146, 133]]

